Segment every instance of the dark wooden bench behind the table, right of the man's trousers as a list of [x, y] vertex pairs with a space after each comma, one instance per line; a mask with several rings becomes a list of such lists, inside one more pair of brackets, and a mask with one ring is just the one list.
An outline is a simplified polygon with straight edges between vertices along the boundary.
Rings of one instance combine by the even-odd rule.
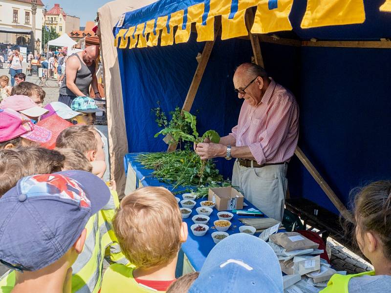
[[[297, 214], [304, 221], [304, 226], [308, 225], [311, 227], [310, 230], [312, 230], [312, 228], [320, 230], [319, 234], [322, 234], [322, 239], [325, 243], [327, 237], [331, 236], [349, 250], [356, 253], [358, 252], [353, 241], [354, 235], [350, 233], [352, 231], [352, 224], [346, 224], [346, 222], [343, 219], [340, 220], [339, 216], [335, 213], [332, 213], [305, 198], [286, 199], [285, 208]], [[342, 221], [343, 223], [341, 223]], [[346, 232], [343, 225], [347, 225], [347, 230], [350, 232]], [[349, 234], [347, 235], [347, 233]]]

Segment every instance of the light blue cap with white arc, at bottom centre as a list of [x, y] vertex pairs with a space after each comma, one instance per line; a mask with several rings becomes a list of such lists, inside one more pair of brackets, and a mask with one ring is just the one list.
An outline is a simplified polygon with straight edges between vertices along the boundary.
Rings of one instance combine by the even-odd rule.
[[189, 293], [282, 293], [275, 252], [258, 237], [230, 235], [209, 252]]

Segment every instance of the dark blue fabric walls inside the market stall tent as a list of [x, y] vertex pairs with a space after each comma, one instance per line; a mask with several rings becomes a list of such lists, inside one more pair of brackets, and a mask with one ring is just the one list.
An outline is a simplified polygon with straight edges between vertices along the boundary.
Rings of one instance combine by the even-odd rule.
[[[163, 2], [170, 1], [158, 3]], [[383, 2], [365, 1], [363, 24], [302, 30], [305, 1], [295, 0], [290, 14], [293, 32], [303, 40], [389, 38], [391, 14], [378, 11]], [[144, 13], [157, 9], [153, 5], [134, 12], [133, 17], [147, 19]], [[197, 66], [195, 56], [203, 46], [192, 33], [187, 43], [118, 49], [129, 152], [167, 149], [162, 137], [153, 138], [160, 128], [151, 109], [157, 101], [165, 112], [183, 105]], [[290, 89], [299, 103], [299, 146], [345, 205], [352, 188], [391, 179], [390, 49], [261, 42], [261, 50], [270, 76]], [[252, 54], [247, 40], [217, 39], [191, 110], [199, 110], [200, 133], [215, 129], [223, 136], [237, 124], [242, 101], [233, 91], [232, 77], [240, 63], [251, 61]], [[217, 160], [218, 168], [228, 177], [232, 163]], [[338, 212], [295, 157], [289, 164], [288, 179], [291, 196], [308, 198]]]

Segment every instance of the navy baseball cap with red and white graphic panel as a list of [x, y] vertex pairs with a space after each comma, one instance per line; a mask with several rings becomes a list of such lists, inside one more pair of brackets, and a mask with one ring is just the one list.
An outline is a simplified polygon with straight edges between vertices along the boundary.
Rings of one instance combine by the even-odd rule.
[[22, 178], [0, 198], [0, 263], [18, 271], [54, 263], [109, 198], [105, 182], [86, 171]]

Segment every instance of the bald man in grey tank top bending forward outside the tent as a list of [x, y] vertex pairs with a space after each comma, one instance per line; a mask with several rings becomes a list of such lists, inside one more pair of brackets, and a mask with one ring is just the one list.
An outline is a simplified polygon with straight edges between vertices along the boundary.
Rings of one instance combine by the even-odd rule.
[[98, 80], [95, 75], [95, 60], [98, 56], [99, 48], [89, 46], [68, 57], [59, 102], [70, 107], [76, 97], [89, 96], [90, 85], [95, 92], [95, 97], [100, 98]]

